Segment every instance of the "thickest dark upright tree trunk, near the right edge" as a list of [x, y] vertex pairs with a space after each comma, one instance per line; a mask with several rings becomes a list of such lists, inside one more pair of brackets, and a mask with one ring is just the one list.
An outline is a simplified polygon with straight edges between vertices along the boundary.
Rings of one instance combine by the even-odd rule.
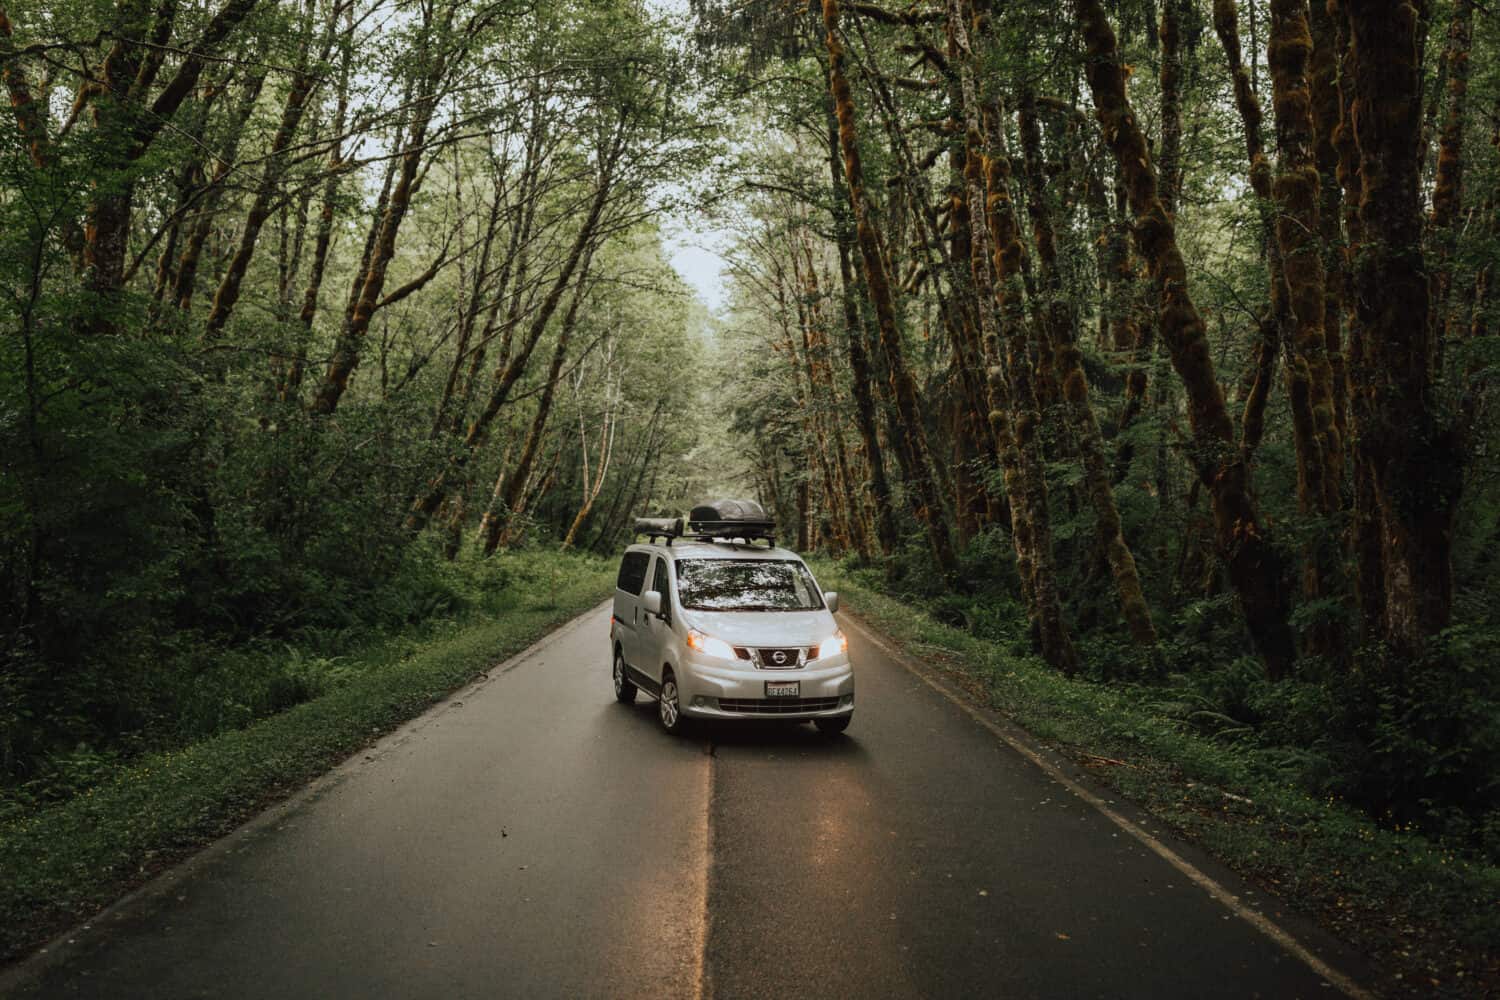
[[1358, 456], [1380, 510], [1383, 637], [1400, 660], [1448, 625], [1452, 528], [1462, 463], [1438, 415], [1422, 259], [1422, 75], [1418, 10], [1344, 0], [1353, 48], [1353, 124], [1359, 145], [1362, 244], [1354, 301], [1364, 366], [1354, 391], [1366, 418]]

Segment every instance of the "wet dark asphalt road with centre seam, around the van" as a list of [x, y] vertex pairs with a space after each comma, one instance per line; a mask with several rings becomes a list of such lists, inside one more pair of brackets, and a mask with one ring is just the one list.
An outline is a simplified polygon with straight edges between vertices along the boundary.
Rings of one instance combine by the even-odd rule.
[[846, 736], [756, 724], [674, 739], [645, 696], [615, 703], [608, 624], [596, 609], [492, 670], [0, 987], [1341, 996], [1221, 901], [1254, 900], [1244, 886], [1162, 849], [1224, 886], [1210, 895], [858, 628]]

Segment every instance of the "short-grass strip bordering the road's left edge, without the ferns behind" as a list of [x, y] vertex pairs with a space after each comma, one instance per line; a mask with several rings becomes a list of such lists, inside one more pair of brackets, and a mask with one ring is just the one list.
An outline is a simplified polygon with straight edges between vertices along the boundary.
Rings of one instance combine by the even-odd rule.
[[0, 825], [0, 963], [24, 957], [285, 798], [488, 667], [602, 601], [602, 559], [518, 556], [488, 613], [340, 663], [334, 685], [244, 729], [144, 756], [75, 798]]

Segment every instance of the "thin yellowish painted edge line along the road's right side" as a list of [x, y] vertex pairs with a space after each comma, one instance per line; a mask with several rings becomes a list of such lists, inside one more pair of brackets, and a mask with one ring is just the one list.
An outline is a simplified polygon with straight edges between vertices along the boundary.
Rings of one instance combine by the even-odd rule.
[[1050, 760], [1047, 760], [1046, 757], [1042, 757], [1041, 754], [1038, 754], [1035, 750], [1032, 750], [1026, 744], [1020, 742], [1018, 739], [1016, 739], [1014, 736], [1011, 736], [1010, 733], [1006, 733], [1004, 729], [1000, 729], [999, 726], [996, 726], [992, 720], [986, 718], [984, 712], [981, 712], [980, 709], [976, 709], [974, 705], [970, 705], [964, 699], [958, 697], [946, 685], [944, 685], [939, 681], [936, 681], [934, 678], [928, 676], [924, 670], [918, 670], [908, 660], [908, 657], [904, 654], [892, 649], [882, 639], [879, 639], [878, 636], [874, 636], [874, 633], [872, 633], [870, 628], [864, 622], [855, 621], [852, 618], [844, 616], [844, 624], [846, 625], [854, 625], [855, 630], [861, 636], [864, 636], [872, 645], [874, 645], [879, 649], [882, 649], [888, 657], [891, 657], [891, 660], [894, 660], [896, 663], [902, 664], [902, 667], [908, 673], [910, 673], [912, 676], [915, 676], [916, 679], [920, 679], [922, 684], [926, 684], [927, 687], [930, 687], [933, 691], [938, 691], [938, 694], [944, 696], [945, 699], [948, 699], [950, 702], [952, 702], [954, 705], [957, 705], [958, 709], [962, 709], [964, 715], [968, 715], [975, 723], [978, 723], [980, 726], [982, 726], [984, 729], [987, 729], [990, 733], [993, 733], [996, 738], [999, 738], [1002, 742], [1005, 742], [1011, 750], [1014, 750], [1020, 756], [1026, 757], [1026, 760], [1029, 760], [1034, 765], [1036, 765], [1036, 768], [1040, 768], [1042, 772], [1046, 772], [1048, 778], [1052, 778], [1058, 784], [1064, 786], [1065, 789], [1068, 789], [1070, 792], [1072, 792], [1076, 796], [1078, 796], [1080, 799], [1083, 799], [1084, 802], [1088, 802], [1089, 805], [1092, 805], [1095, 810], [1098, 810], [1100, 813], [1102, 813], [1107, 820], [1110, 820], [1112, 823], [1114, 823], [1116, 826], [1119, 826], [1122, 831], [1125, 831], [1126, 834], [1130, 834], [1131, 837], [1134, 837], [1136, 840], [1138, 840], [1142, 844], [1144, 844], [1146, 847], [1149, 847], [1154, 855], [1156, 855], [1158, 858], [1161, 858], [1162, 861], [1166, 861], [1168, 865], [1172, 865], [1173, 868], [1176, 868], [1178, 871], [1180, 871], [1196, 886], [1198, 886], [1200, 889], [1203, 889], [1204, 892], [1208, 892], [1210, 897], [1214, 897], [1215, 900], [1218, 900], [1220, 903], [1222, 903], [1226, 907], [1228, 907], [1228, 910], [1232, 913], [1234, 913], [1234, 916], [1238, 916], [1239, 919], [1245, 921], [1246, 924], [1250, 924], [1251, 927], [1254, 927], [1257, 931], [1260, 931], [1262, 934], [1264, 934], [1266, 937], [1269, 937], [1282, 951], [1286, 951], [1290, 955], [1293, 955], [1294, 958], [1298, 958], [1304, 966], [1306, 966], [1314, 973], [1317, 973], [1318, 976], [1322, 976], [1323, 979], [1326, 979], [1330, 985], [1334, 985], [1336, 990], [1340, 990], [1344, 996], [1352, 997], [1353, 1000], [1376, 1000], [1376, 994], [1370, 993], [1368, 990], [1365, 990], [1364, 987], [1360, 987], [1358, 982], [1354, 982], [1353, 979], [1350, 979], [1348, 976], [1346, 976], [1344, 973], [1338, 972], [1336, 969], [1334, 969], [1332, 966], [1329, 966], [1328, 963], [1324, 963], [1322, 958], [1318, 958], [1317, 955], [1314, 955], [1305, 945], [1302, 945], [1302, 942], [1299, 942], [1298, 939], [1292, 937], [1292, 934], [1288, 934], [1287, 931], [1284, 931], [1278, 924], [1275, 924], [1264, 913], [1260, 913], [1258, 910], [1254, 910], [1254, 909], [1245, 906], [1244, 903], [1240, 903], [1240, 900], [1239, 900], [1238, 895], [1234, 895], [1233, 892], [1230, 892], [1228, 889], [1226, 889], [1224, 886], [1221, 886], [1218, 882], [1215, 882], [1214, 879], [1210, 879], [1208, 874], [1204, 874], [1202, 870], [1198, 870], [1197, 867], [1194, 867], [1190, 861], [1186, 861], [1185, 858], [1182, 858], [1182, 855], [1176, 853], [1174, 850], [1172, 850], [1170, 847], [1167, 847], [1166, 844], [1162, 844], [1160, 840], [1156, 840], [1155, 837], [1152, 837], [1149, 832], [1146, 832], [1144, 829], [1142, 829], [1136, 823], [1130, 822], [1128, 819], [1125, 819], [1124, 816], [1120, 816], [1119, 813], [1116, 813], [1114, 810], [1112, 810], [1110, 805], [1108, 805], [1108, 802], [1106, 802], [1100, 796], [1096, 796], [1092, 792], [1089, 792], [1088, 789], [1084, 789], [1082, 784], [1078, 784], [1077, 781], [1074, 781], [1072, 778], [1070, 778], [1066, 774], [1064, 774]]

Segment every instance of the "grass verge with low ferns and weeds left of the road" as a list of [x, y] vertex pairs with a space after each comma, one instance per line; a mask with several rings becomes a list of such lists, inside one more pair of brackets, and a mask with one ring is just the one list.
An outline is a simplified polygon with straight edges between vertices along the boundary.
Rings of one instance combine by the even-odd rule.
[[[432, 568], [429, 594], [444, 604], [422, 624], [220, 654], [192, 685], [174, 739], [130, 756], [80, 750], [34, 795], [22, 787], [0, 799], [0, 961], [596, 606], [616, 570], [612, 559], [550, 550]], [[212, 706], [212, 718], [192, 706]]]

